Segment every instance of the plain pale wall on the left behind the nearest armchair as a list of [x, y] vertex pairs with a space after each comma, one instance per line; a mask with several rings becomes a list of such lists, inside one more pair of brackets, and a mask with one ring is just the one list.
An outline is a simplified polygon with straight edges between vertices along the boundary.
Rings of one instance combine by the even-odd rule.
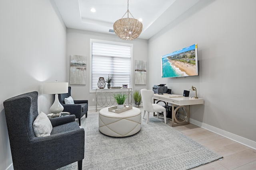
[[48, 113], [42, 82], [66, 81], [66, 27], [53, 0], [1, 0], [0, 23], [0, 169], [11, 170], [3, 102], [38, 91], [38, 110]]

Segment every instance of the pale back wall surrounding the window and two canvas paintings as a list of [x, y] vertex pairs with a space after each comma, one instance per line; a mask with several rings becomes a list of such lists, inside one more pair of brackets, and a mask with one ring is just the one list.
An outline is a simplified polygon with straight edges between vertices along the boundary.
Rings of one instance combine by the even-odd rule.
[[[133, 64], [135, 60], [148, 60], [148, 41], [144, 39], [135, 39], [132, 41], [125, 41], [118, 38], [114, 33], [113, 35], [96, 33], [91, 31], [82, 31], [78, 29], [67, 29], [67, 55], [66, 55], [66, 79], [69, 80], [69, 68], [70, 68], [70, 55], [84, 55], [87, 57], [86, 64], [86, 85], [70, 85], [72, 90], [72, 98], [74, 100], [88, 100], [89, 109], [95, 108], [96, 102], [92, 102], [95, 99], [95, 93], [90, 93], [90, 39], [100, 39], [106, 41], [115, 41], [122, 43], [133, 44]], [[134, 79], [134, 69], [132, 71]], [[147, 78], [148, 79], [148, 78]], [[134, 80], [133, 80], [134, 82]], [[134, 85], [133, 90], [140, 90], [145, 88], [146, 85]]]

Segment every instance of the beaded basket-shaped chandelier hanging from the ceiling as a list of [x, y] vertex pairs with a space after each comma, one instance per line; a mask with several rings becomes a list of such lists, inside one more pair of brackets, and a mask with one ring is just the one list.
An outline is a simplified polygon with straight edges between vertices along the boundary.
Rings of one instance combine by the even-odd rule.
[[[114, 32], [115, 34], [120, 38], [124, 40], [133, 40], [136, 39], [141, 31], [142, 31], [142, 23], [138, 20], [136, 20], [132, 14], [129, 11], [129, 0], [127, 2], [127, 11], [125, 14], [127, 14], [127, 18], [121, 18], [117, 20], [114, 25]], [[132, 18], [129, 18], [129, 14], [132, 16]]]

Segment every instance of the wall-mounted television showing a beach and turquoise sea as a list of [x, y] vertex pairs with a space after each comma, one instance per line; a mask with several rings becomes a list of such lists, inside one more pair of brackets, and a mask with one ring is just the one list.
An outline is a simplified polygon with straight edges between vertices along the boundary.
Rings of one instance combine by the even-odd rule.
[[198, 76], [197, 44], [161, 56], [162, 78]]

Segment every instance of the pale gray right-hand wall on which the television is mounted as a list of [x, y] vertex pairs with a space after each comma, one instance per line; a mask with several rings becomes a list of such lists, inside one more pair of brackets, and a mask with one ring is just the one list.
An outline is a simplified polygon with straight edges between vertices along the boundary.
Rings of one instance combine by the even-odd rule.
[[[190, 118], [222, 135], [238, 135], [236, 140], [254, 148], [255, 6], [254, 0], [201, 0], [148, 43], [148, 88], [167, 84], [182, 95], [195, 86], [204, 105], [190, 107]], [[198, 43], [199, 76], [161, 78], [160, 56], [194, 43]]]

